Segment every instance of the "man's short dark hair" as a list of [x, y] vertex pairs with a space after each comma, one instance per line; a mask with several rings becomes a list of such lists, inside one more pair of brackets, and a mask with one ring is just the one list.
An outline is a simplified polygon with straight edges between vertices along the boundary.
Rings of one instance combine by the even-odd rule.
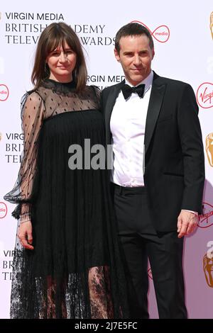
[[151, 47], [151, 49], [153, 49], [154, 47], [153, 38], [149, 30], [145, 26], [142, 26], [139, 23], [128, 23], [126, 24], [126, 26], [121, 27], [119, 31], [116, 33], [114, 47], [118, 53], [120, 52], [119, 42], [121, 37], [133, 36], [133, 35], [146, 35], [149, 39], [149, 46]]

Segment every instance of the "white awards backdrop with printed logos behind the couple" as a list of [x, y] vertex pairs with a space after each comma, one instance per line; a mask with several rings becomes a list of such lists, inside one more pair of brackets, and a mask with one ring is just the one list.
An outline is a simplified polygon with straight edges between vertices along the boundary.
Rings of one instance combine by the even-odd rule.
[[[135, 21], [153, 34], [153, 69], [164, 77], [191, 84], [200, 107], [205, 154], [204, 213], [196, 232], [185, 239], [184, 271], [190, 318], [213, 318], [213, 3], [204, 1], [127, 0], [26, 2], [0, 6], [0, 318], [9, 318], [14, 205], [4, 194], [15, 184], [23, 150], [20, 101], [32, 89], [31, 69], [40, 33], [50, 23], [64, 21], [79, 35], [87, 59], [88, 84], [100, 89], [120, 82], [114, 58], [114, 36]], [[151, 269], [149, 308], [158, 318]]]

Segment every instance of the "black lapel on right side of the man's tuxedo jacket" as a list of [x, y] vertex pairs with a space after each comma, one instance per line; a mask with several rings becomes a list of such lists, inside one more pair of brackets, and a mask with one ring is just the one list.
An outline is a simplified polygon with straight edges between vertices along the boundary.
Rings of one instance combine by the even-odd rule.
[[156, 122], [158, 120], [158, 115], [163, 102], [163, 96], [165, 93], [165, 83], [163, 80], [154, 73], [153, 86], [151, 89], [150, 101], [148, 104], [148, 111], [146, 116], [146, 128], [145, 128], [145, 152], [148, 150], [151, 138], [153, 136], [153, 131], [155, 129]]

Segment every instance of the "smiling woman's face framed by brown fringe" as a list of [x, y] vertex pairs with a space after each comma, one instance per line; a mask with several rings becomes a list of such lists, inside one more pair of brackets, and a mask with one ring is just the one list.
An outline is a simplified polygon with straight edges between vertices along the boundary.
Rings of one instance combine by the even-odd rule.
[[46, 63], [50, 68], [50, 79], [59, 82], [72, 81], [72, 72], [76, 65], [76, 53], [65, 43], [55, 48], [48, 55]]

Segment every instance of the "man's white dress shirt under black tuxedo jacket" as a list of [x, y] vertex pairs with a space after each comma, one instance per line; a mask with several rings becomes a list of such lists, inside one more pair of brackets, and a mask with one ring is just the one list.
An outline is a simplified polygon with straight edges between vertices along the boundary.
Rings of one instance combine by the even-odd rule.
[[[128, 81], [126, 83], [129, 84]], [[114, 153], [111, 181], [120, 186], [144, 186], [144, 135], [152, 83], [151, 71], [148, 77], [139, 83], [145, 84], [143, 98], [133, 93], [125, 100], [120, 91], [111, 113], [110, 129]]]

